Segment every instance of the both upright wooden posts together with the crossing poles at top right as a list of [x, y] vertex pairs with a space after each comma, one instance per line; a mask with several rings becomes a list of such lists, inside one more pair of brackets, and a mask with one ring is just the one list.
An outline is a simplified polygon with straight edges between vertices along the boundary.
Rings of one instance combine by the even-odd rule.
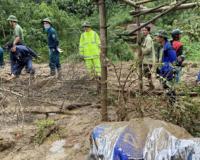
[[[137, 44], [138, 44], [138, 57], [139, 57], [139, 91], [140, 94], [143, 93], [143, 71], [142, 71], [142, 61], [143, 61], [143, 54], [142, 54], [142, 42], [141, 42], [141, 28], [147, 26], [151, 22], [159, 19], [160, 17], [168, 14], [173, 10], [181, 10], [181, 9], [188, 9], [194, 8], [195, 6], [199, 5], [198, 2], [196, 3], [186, 3], [188, 0], [180, 0], [173, 4], [162, 4], [155, 8], [146, 8], [143, 4], [153, 2], [156, 0], [122, 0], [126, 4], [134, 7], [134, 10], [130, 12], [133, 17], [136, 17], [137, 28], [131, 31], [127, 36], [131, 36], [133, 33], [137, 32]], [[107, 28], [106, 28], [106, 7], [105, 7], [105, 0], [98, 0], [99, 6], [99, 19], [100, 19], [100, 38], [101, 38], [101, 115], [102, 120], [108, 120], [108, 113], [107, 113]], [[160, 13], [161, 12], [161, 13]], [[140, 16], [150, 14], [150, 13], [160, 13], [153, 17], [151, 20], [147, 21], [146, 23], [141, 25]]]

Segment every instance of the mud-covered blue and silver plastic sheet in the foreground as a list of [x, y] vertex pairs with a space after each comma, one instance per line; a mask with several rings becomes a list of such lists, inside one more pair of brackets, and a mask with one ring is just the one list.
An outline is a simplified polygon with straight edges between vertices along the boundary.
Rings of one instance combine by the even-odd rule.
[[200, 139], [185, 129], [150, 118], [98, 125], [90, 160], [200, 160]]

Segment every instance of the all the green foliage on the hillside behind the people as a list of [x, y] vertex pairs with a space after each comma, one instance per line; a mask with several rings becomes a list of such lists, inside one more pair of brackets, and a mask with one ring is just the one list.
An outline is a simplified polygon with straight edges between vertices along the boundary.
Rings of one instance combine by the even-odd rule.
[[[169, 0], [171, 3], [174, 0]], [[195, 0], [191, 0], [195, 1]], [[148, 7], [166, 3], [165, 0], [145, 4]], [[41, 20], [45, 17], [51, 18], [53, 26], [58, 31], [60, 48], [64, 50], [61, 60], [76, 58], [78, 55], [79, 38], [82, 32], [81, 24], [88, 20], [93, 29], [99, 30], [99, 12], [96, 1], [93, 0], [1, 0], [0, 1], [0, 44], [1, 46], [11, 39], [12, 28], [10, 28], [7, 17], [10, 14], [19, 19], [19, 24], [24, 29], [25, 43], [38, 52], [41, 57], [37, 62], [48, 61], [47, 35], [43, 31]], [[119, 35], [124, 28], [132, 23], [129, 11], [133, 8], [124, 5], [119, 0], [106, 0], [107, 25], [108, 25], [108, 55], [112, 60], [131, 60], [132, 50], [129, 44]], [[181, 13], [181, 14], [180, 14]], [[145, 22], [155, 14], [141, 17]], [[174, 28], [184, 31], [183, 43], [187, 51], [187, 59], [199, 60], [200, 43], [200, 12], [199, 7], [170, 13], [157, 20], [157, 29], [165, 29], [169, 33]]]

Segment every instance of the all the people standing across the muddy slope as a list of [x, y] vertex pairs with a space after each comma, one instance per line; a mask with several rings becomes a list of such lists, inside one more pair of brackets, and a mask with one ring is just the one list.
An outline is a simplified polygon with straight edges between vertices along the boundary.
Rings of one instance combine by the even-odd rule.
[[[11, 79], [18, 77], [23, 68], [27, 73], [34, 75], [35, 70], [32, 66], [32, 58], [37, 58], [37, 53], [24, 44], [23, 29], [18, 24], [18, 19], [10, 15], [7, 19], [10, 26], [13, 28], [13, 38], [11, 43], [4, 46], [10, 52], [11, 62]], [[58, 34], [52, 26], [52, 21], [45, 18], [42, 21], [43, 28], [47, 33], [48, 48], [49, 48], [49, 68], [50, 75], [57, 75], [61, 78], [61, 64]], [[101, 63], [100, 63], [100, 38], [98, 34], [92, 30], [89, 22], [84, 22], [82, 25], [84, 33], [80, 36], [79, 53], [84, 59], [86, 69], [93, 78], [100, 78]], [[152, 73], [157, 73], [158, 76], [165, 81], [180, 81], [180, 73], [185, 55], [183, 52], [183, 44], [181, 43], [182, 31], [175, 29], [171, 32], [172, 40], [169, 40], [168, 34], [164, 30], [160, 30], [155, 34], [155, 40], [160, 44], [159, 54], [156, 54], [154, 48], [154, 40], [150, 35], [151, 28], [146, 26], [142, 29], [144, 40], [142, 43], [143, 53], [143, 72], [149, 82], [149, 88], [154, 89]], [[0, 67], [4, 65], [3, 49], [0, 48]]]

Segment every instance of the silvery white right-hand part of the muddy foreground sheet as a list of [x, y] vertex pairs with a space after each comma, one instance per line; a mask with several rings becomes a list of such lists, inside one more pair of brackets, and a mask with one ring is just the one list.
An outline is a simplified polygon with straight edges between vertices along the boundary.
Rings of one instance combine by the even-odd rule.
[[164, 128], [148, 134], [145, 160], [200, 160], [200, 139], [177, 139]]

